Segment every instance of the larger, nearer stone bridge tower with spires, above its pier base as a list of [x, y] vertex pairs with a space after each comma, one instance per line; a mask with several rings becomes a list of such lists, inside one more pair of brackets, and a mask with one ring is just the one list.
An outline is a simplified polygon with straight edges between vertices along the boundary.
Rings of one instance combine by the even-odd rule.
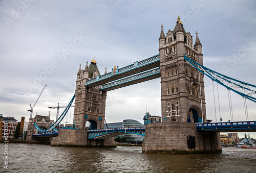
[[162, 121], [206, 122], [203, 74], [199, 76], [199, 71], [183, 57], [203, 65], [202, 44], [196, 33], [193, 45], [180, 17], [176, 23], [166, 36], [161, 26], [159, 38]]

